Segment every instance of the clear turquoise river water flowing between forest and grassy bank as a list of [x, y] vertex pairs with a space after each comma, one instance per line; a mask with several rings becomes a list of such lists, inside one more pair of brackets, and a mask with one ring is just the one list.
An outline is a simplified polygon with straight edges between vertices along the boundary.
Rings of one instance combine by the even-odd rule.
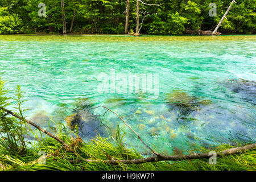
[[[77, 101], [116, 111], [159, 152], [189, 150], [189, 143], [256, 140], [256, 36], [0, 36], [0, 77], [22, 86], [26, 115], [47, 127], [65, 123]], [[158, 74], [158, 97], [99, 93], [100, 74]], [[118, 79], [118, 76], [115, 80]], [[243, 80], [242, 80], [243, 79]], [[247, 81], [245, 81], [247, 80]], [[118, 81], [115, 82], [118, 84]], [[154, 86], [154, 85], [153, 85]], [[87, 100], [88, 99], [88, 100]], [[94, 114], [103, 115], [98, 108]], [[146, 151], [108, 112], [100, 117], [126, 143]]]

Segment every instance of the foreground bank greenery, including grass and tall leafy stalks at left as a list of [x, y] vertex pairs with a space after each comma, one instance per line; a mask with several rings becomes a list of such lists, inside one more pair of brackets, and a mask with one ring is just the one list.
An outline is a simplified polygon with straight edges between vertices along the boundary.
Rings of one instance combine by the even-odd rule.
[[[141, 164], [110, 164], [106, 160], [141, 159], [137, 151], [127, 148], [123, 141], [125, 133], [117, 126], [115, 137], [104, 138], [100, 135], [89, 142], [84, 142], [77, 133], [77, 128], [71, 131], [62, 123], [49, 127], [57, 138], [67, 143], [71, 150], [65, 148], [56, 139], [45, 135], [39, 129], [27, 125], [22, 109], [23, 92], [20, 86], [15, 89], [15, 98], [7, 97], [4, 81], [0, 80], [0, 169], [2, 170], [255, 170], [256, 150], [246, 150], [234, 155], [220, 156], [217, 164], [209, 164], [207, 158], [181, 161], [160, 161]], [[13, 102], [13, 100], [15, 102]], [[14, 103], [14, 105], [13, 105]], [[6, 111], [12, 106], [16, 114]], [[16, 117], [13, 117], [16, 115]], [[118, 115], [118, 114], [117, 114]], [[49, 121], [50, 122], [50, 121]], [[54, 121], [51, 121], [54, 123]], [[29, 137], [30, 136], [30, 137]], [[30, 140], [28, 140], [30, 138]], [[34, 138], [34, 140], [31, 140]], [[193, 152], [209, 152], [191, 144]], [[221, 145], [212, 150], [218, 152], [234, 146]], [[45, 154], [45, 161], [39, 154]], [[75, 151], [75, 152], [72, 152]], [[97, 162], [78, 159], [97, 159]]]

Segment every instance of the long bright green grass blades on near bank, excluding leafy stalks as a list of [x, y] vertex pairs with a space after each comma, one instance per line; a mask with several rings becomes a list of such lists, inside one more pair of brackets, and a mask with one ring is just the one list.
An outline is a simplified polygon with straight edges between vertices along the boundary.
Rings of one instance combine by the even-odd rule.
[[[134, 149], [129, 149], [123, 144], [122, 136], [117, 133], [116, 137], [102, 138], [100, 136], [89, 140], [82, 141], [77, 135], [71, 134], [63, 124], [56, 124], [56, 135], [71, 145], [85, 159], [139, 159], [142, 158]], [[38, 130], [30, 130], [35, 137], [31, 146], [27, 147], [26, 156], [17, 156], [10, 153], [6, 144], [0, 141], [0, 168], [5, 170], [111, 170], [111, 171], [166, 171], [166, 170], [256, 170], [256, 150], [246, 151], [242, 154], [225, 156], [217, 158], [217, 164], [209, 164], [208, 159], [183, 160], [178, 162], [151, 162], [143, 164], [107, 164], [104, 162], [81, 162], [77, 161], [77, 156], [65, 150], [65, 148], [55, 139], [43, 136]], [[42, 139], [39, 136], [42, 135]], [[233, 146], [222, 145], [214, 151], [222, 151]], [[46, 164], [40, 164], [39, 152], [44, 151], [46, 154]], [[197, 148], [198, 151], [198, 148]], [[200, 151], [209, 152], [206, 148]]]

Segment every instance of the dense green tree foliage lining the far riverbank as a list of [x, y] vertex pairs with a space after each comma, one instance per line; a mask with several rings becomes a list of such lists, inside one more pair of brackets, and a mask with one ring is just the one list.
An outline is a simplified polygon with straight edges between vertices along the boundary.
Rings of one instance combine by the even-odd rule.
[[[39, 3], [46, 4], [46, 17], [38, 16]], [[210, 0], [150, 0], [160, 6], [140, 5], [143, 34], [181, 34], [191, 30], [213, 30], [224, 15], [230, 0], [214, 1], [217, 16], [209, 16]], [[64, 0], [67, 30], [73, 33], [123, 34], [126, 1], [123, 0]], [[255, 33], [255, 0], [238, 0], [219, 29], [222, 33]], [[146, 17], [144, 17], [146, 16]], [[129, 31], [136, 28], [136, 1], [130, 0]], [[62, 32], [60, 0], [0, 0], [0, 34]]]

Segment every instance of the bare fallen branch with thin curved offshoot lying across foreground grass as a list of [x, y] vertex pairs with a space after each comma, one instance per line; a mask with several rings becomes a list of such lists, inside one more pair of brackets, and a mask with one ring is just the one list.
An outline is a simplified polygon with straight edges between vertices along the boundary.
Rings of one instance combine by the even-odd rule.
[[[131, 127], [129, 125], [127, 125], [127, 123], [117, 114], [115, 113], [113, 110], [110, 110], [108, 107], [105, 106], [98, 106], [98, 107], [104, 107], [105, 109], [107, 109], [107, 111], [111, 111], [112, 113], [114, 113], [115, 115], [117, 115], [117, 117], [119, 119], [121, 119], [121, 121], [123, 123], [125, 123], [125, 125], [127, 127], [129, 127], [129, 129], [131, 129]], [[96, 109], [97, 107], [94, 107], [92, 109]], [[159, 154], [158, 152], [155, 152], [154, 150], [152, 150], [149, 146], [147, 146], [146, 143], [143, 142], [142, 138], [139, 137], [139, 135], [133, 130], [131, 129], [136, 135], [137, 137], [141, 140], [141, 142], [149, 149], [152, 151], [152, 153], [154, 154], [154, 156], [150, 156], [148, 158], [141, 158], [141, 159], [127, 159], [127, 160], [101, 160], [101, 159], [84, 159], [82, 158], [79, 154], [77, 154], [77, 152], [75, 150], [72, 149], [71, 146], [69, 146], [67, 143], [65, 143], [63, 140], [61, 140], [60, 138], [56, 137], [55, 135], [49, 133], [48, 131], [42, 129], [42, 127], [36, 125], [34, 122], [29, 121], [26, 118], [22, 118], [20, 117], [18, 114], [13, 113], [10, 110], [7, 110], [3, 107], [0, 107], [0, 110], [5, 111], [8, 114], [13, 115], [14, 117], [25, 121], [26, 123], [36, 127], [37, 129], [39, 129], [40, 131], [42, 131], [43, 133], [47, 134], [49, 137], [57, 140], [58, 142], [60, 142], [61, 144], [63, 144], [63, 146], [70, 152], [72, 152], [73, 154], [77, 155], [77, 157], [79, 159], [77, 160], [69, 160], [69, 162], [73, 163], [73, 162], [104, 162], [107, 164], [119, 164], [119, 163], [123, 163], [123, 164], [141, 164], [141, 163], [147, 163], [147, 162], [158, 162], [158, 161], [163, 161], [163, 160], [172, 160], [172, 161], [176, 161], [176, 160], [188, 160], [188, 159], [203, 159], [203, 158], [210, 158], [212, 155], [210, 155], [209, 153], [201, 153], [201, 154], [189, 154], [189, 155], [162, 155]], [[228, 156], [228, 155], [232, 155], [232, 154], [239, 154], [241, 152], [245, 152], [247, 150], [253, 150], [254, 148], [256, 148], [256, 143], [254, 144], [249, 144], [247, 146], [243, 146], [243, 147], [236, 147], [236, 148], [230, 148], [228, 150], [224, 150], [221, 152], [216, 152], [216, 156], [221, 157], [221, 156]]]

